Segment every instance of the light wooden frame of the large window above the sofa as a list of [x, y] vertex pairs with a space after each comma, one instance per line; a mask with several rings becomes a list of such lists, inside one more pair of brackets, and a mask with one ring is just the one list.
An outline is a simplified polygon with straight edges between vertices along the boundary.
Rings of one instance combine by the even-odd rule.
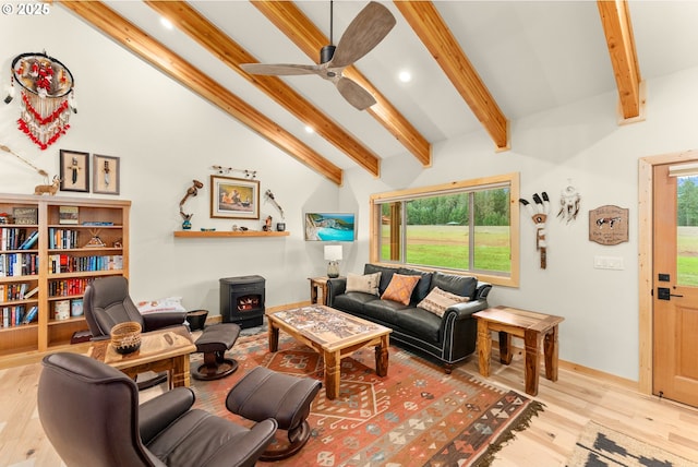
[[[369, 235], [369, 258], [373, 264], [384, 264], [386, 266], [409, 266], [424, 271], [437, 271], [438, 267], [410, 264], [404, 261], [385, 262], [381, 260], [381, 229], [382, 229], [382, 205], [396, 201], [410, 201], [418, 197], [442, 196], [454, 193], [474, 192], [493, 189], [502, 185], [509, 188], [509, 249], [510, 249], [510, 272], [508, 275], [488, 274], [482, 271], [470, 270], [447, 270], [448, 273], [477, 276], [479, 280], [505, 287], [519, 286], [519, 172], [510, 172], [492, 177], [482, 177], [471, 180], [460, 180], [449, 183], [442, 183], [431, 187], [412, 188], [408, 190], [376, 193], [370, 196], [370, 235]], [[400, 221], [400, 227], [402, 223]], [[400, 228], [401, 230], [401, 228]], [[474, 239], [471, 239], [474, 241]], [[405, 248], [405, 246], [401, 246]]]

